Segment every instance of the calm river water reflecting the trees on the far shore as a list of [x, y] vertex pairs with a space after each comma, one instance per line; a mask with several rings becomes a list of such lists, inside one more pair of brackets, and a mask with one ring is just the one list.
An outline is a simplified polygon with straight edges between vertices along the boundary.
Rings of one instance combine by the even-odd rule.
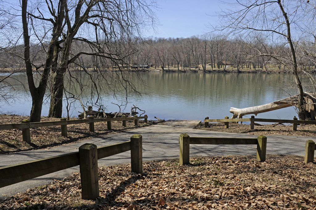
[[[146, 110], [149, 119], [154, 119], [154, 116], [166, 120], [202, 120], [206, 116], [210, 119], [222, 119], [232, 116], [229, 113], [230, 107], [256, 106], [296, 94], [295, 89], [291, 88], [294, 86], [291, 74], [143, 72], [140, 76], [145, 83], [145, 88], [142, 89], [144, 93], [141, 97], [129, 98], [125, 111], [129, 112], [132, 104], [135, 104]], [[27, 82], [23, 74], [16, 78], [23, 83]], [[112, 93], [101, 93], [101, 97], [109, 112], [118, 111], [117, 105], [111, 104], [118, 103], [113, 99]], [[31, 97], [27, 90], [16, 87], [14, 98], [15, 101], [9, 100], [9, 105], [0, 101], [0, 111], [29, 115]], [[48, 114], [47, 101], [48, 98], [43, 104], [44, 116]], [[77, 116], [78, 111], [82, 112], [82, 108], [76, 102], [70, 115]], [[66, 111], [63, 115], [66, 116]], [[294, 116], [297, 116], [295, 109], [290, 107], [258, 114], [257, 117], [293, 119]]]

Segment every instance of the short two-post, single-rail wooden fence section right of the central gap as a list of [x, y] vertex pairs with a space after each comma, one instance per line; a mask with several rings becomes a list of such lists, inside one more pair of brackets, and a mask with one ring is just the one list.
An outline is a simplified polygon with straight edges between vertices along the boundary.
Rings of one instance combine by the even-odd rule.
[[267, 137], [258, 138], [214, 138], [214, 137], [190, 137], [182, 133], [179, 137], [180, 165], [189, 164], [190, 144], [210, 144], [210, 145], [257, 145], [257, 160], [264, 162], [267, 148]]

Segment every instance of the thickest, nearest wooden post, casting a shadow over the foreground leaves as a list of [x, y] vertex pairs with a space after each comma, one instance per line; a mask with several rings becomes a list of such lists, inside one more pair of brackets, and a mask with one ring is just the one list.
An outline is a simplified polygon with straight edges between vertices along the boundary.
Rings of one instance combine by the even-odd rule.
[[84, 144], [79, 147], [80, 180], [82, 199], [99, 197], [97, 146]]

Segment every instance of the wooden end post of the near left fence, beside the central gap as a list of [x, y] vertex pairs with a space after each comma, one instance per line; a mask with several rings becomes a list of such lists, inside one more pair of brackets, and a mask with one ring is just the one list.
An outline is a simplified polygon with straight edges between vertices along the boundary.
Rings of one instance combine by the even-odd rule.
[[134, 134], [131, 137], [131, 169], [132, 172], [143, 173], [143, 137]]

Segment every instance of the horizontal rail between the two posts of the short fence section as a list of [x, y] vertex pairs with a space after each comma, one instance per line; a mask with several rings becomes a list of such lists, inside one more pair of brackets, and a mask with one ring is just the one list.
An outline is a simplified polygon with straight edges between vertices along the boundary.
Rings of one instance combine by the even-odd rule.
[[210, 145], [257, 145], [258, 139], [245, 138], [213, 138], [213, 137], [190, 137], [190, 144]]

